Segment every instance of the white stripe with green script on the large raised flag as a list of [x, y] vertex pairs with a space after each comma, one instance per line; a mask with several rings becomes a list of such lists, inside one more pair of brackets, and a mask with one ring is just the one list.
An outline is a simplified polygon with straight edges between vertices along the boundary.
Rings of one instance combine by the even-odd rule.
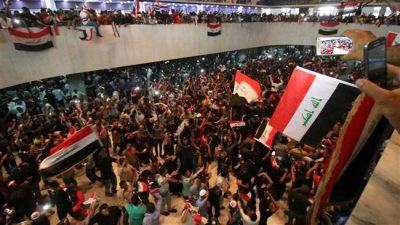
[[[315, 75], [306, 75], [315, 76]], [[289, 135], [291, 138], [296, 140], [301, 140], [307, 130], [310, 129], [311, 125], [315, 122], [320, 112], [324, 108], [325, 104], [328, 102], [332, 93], [335, 91], [338, 82], [335, 80], [325, 79], [323, 76], [315, 76], [315, 79], [311, 86], [308, 88], [307, 93], [304, 95], [301, 103], [293, 114], [288, 125], [283, 130], [283, 133]], [[300, 86], [301, 88], [301, 86]], [[321, 91], [323, 90], [323, 91]], [[290, 92], [294, 91], [289, 89]], [[312, 99], [318, 99], [318, 107], [314, 107], [312, 104]], [[307, 117], [308, 112], [313, 112], [310, 120], [304, 122], [304, 117]], [[337, 118], [337, 117], [336, 117]]]

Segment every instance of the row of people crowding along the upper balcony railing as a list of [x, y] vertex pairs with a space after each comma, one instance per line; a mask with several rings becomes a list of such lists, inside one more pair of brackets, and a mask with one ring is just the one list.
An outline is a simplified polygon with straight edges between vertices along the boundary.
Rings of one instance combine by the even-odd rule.
[[[84, 12], [84, 14], [82, 13]], [[142, 11], [123, 13], [121, 10], [104, 10], [96, 12], [94, 9], [82, 10], [58, 10], [41, 9], [32, 13], [26, 7], [19, 11], [10, 12], [9, 10], [0, 11], [0, 27], [20, 27], [20, 26], [46, 26], [60, 25], [67, 27], [81, 26], [88, 20], [97, 25], [117, 25], [129, 24], [181, 24], [181, 23], [206, 23], [210, 20], [218, 20], [222, 23], [240, 22], [319, 22], [319, 21], [338, 21], [343, 23], [360, 23], [380, 25], [399, 25], [400, 15], [392, 13], [390, 16], [374, 16], [372, 14], [359, 14], [357, 16], [317, 16], [317, 15], [291, 15], [281, 14], [255, 14], [255, 13], [222, 13], [222, 12], [182, 12], [168, 9], [157, 11]]]

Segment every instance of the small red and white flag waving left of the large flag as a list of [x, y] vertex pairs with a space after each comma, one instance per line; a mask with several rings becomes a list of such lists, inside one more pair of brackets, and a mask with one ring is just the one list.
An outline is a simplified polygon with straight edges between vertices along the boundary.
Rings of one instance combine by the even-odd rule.
[[239, 70], [236, 71], [233, 94], [244, 97], [248, 103], [258, 102], [262, 99], [260, 84]]

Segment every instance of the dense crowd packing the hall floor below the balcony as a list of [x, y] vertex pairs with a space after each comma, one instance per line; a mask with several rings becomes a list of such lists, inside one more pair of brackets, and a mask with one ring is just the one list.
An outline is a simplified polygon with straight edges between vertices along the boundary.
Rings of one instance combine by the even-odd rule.
[[[362, 74], [361, 66], [347, 68], [337, 58], [315, 57], [314, 49], [289, 46], [90, 72], [86, 93], [71, 90], [67, 77], [2, 90], [9, 102], [2, 109], [0, 206], [8, 213], [0, 219], [49, 224], [51, 210], [37, 209], [50, 204], [60, 224], [149, 225], [176, 213], [182, 224], [202, 224], [202, 218], [218, 224], [224, 213], [224, 224], [264, 225], [290, 203], [288, 222], [301, 223], [342, 121], [317, 147], [282, 134], [272, 148], [252, 138], [297, 65], [350, 81]], [[260, 82], [262, 102], [233, 101], [236, 70]], [[231, 128], [232, 120], [246, 127]], [[96, 126], [103, 147], [79, 167], [114, 205], [85, 199], [76, 168], [57, 178], [39, 174], [51, 149], [88, 125]], [[173, 198], [181, 205], [173, 206]], [[336, 209], [332, 215], [343, 216]]]

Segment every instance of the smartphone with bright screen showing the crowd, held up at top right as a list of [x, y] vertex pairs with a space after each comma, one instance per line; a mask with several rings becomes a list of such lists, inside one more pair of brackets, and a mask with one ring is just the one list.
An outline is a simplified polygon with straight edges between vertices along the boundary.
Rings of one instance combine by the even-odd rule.
[[353, 49], [353, 41], [348, 37], [318, 37], [317, 55], [346, 55]]

